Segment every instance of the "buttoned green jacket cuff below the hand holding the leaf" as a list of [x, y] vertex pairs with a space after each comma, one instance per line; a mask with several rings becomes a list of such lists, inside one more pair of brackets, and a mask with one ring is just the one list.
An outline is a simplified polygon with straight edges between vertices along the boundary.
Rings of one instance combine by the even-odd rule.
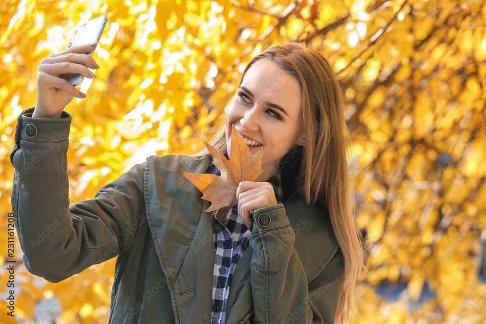
[[283, 204], [259, 208], [254, 210], [251, 215], [250, 231], [252, 234], [263, 234], [290, 226]]

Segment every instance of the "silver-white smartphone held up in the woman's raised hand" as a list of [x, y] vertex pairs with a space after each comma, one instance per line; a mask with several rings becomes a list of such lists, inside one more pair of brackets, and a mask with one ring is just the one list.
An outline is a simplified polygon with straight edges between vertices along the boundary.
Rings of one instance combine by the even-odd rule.
[[[71, 39], [71, 47], [76, 45], [98, 43], [103, 34], [104, 26], [108, 18], [106, 16], [101, 16], [88, 20], [80, 29], [76, 32], [74, 37]], [[93, 56], [94, 50], [85, 53], [86, 55]], [[84, 64], [82, 64], [84, 65]], [[84, 76], [79, 73], [66, 73], [60, 74], [60, 78], [67, 80], [71, 85], [80, 85], [84, 79]], [[56, 91], [61, 91], [61, 89], [56, 88]]]

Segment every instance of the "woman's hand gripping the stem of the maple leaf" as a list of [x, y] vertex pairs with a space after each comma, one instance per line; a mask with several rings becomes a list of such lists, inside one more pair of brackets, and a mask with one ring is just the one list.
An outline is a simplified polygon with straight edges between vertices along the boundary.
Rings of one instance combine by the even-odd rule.
[[238, 199], [238, 215], [248, 228], [252, 211], [277, 205], [275, 191], [268, 182], [242, 181], [236, 189], [236, 198]]

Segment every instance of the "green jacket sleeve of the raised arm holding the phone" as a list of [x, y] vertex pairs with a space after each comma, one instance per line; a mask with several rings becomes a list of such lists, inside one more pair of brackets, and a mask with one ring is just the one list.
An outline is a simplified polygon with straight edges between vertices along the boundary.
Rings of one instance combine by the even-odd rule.
[[71, 116], [17, 121], [12, 210], [24, 264], [33, 274], [59, 282], [130, 246], [143, 203], [144, 164], [69, 206], [67, 150]]

